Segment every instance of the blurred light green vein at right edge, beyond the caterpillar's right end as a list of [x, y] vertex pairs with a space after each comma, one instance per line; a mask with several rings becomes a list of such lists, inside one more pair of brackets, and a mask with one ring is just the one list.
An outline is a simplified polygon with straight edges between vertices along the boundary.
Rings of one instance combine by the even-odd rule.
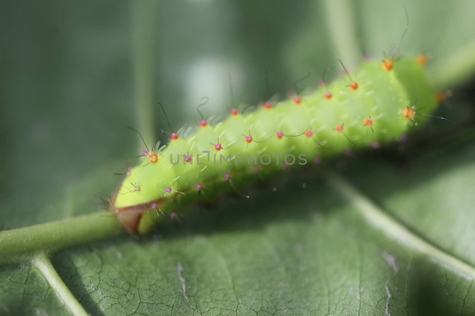
[[436, 89], [447, 89], [470, 79], [474, 71], [475, 39], [428, 69], [428, 78]]

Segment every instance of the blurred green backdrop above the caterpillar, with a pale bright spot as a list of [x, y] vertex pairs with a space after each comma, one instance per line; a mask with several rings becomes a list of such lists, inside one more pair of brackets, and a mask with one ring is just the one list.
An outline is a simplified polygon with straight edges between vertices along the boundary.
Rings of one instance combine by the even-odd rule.
[[[137, 135], [127, 129], [142, 127], [137, 93], [153, 109], [156, 130], [146, 135], [152, 144], [168, 137], [159, 132], [166, 122], [156, 102], [176, 127], [199, 118], [195, 108], [203, 96], [209, 97], [206, 115], [222, 114], [230, 106], [229, 73], [237, 102], [245, 104], [269, 98], [264, 68], [272, 94], [284, 97], [309, 71], [309, 87], [324, 67], [332, 68], [329, 78], [337, 76], [336, 57], [351, 64], [360, 56], [341, 51], [346, 42], [338, 34], [352, 21], [334, 10], [339, 1], [330, 2], [1, 1], [0, 229], [98, 209], [90, 201], [107, 198], [119, 181], [112, 173], [137, 154]], [[346, 44], [354, 41], [361, 54], [381, 58], [406, 24], [403, 3], [348, 3], [355, 27]], [[437, 64], [475, 38], [475, 1], [406, 6], [404, 54], [430, 52]], [[152, 41], [144, 44], [148, 36]], [[142, 60], [147, 53], [150, 61]], [[145, 71], [137, 73], [140, 63]], [[134, 86], [136, 76], [145, 82], [142, 90]], [[143, 92], [147, 84], [150, 94]], [[90, 187], [94, 179], [97, 188]], [[63, 203], [58, 199], [81, 199], [84, 207], [58, 214], [52, 206]]]

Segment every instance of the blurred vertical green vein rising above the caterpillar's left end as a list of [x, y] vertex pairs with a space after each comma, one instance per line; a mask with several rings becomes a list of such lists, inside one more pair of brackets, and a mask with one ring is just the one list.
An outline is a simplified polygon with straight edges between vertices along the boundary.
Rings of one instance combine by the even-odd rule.
[[[133, 23], [133, 74], [137, 129], [146, 141], [156, 138], [154, 124], [154, 90], [157, 1], [132, 2]], [[143, 144], [139, 144], [139, 153]]]

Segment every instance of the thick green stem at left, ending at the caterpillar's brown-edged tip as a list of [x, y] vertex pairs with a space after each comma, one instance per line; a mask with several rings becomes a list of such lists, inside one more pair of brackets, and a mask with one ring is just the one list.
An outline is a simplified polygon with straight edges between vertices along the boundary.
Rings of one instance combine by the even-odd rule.
[[30, 261], [80, 244], [114, 237], [125, 230], [111, 211], [0, 232], [0, 264]]

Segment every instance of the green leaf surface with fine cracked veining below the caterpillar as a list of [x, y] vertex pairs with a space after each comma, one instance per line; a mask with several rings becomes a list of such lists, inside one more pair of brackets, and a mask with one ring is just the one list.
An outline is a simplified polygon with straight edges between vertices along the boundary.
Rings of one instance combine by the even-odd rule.
[[[440, 187], [446, 181], [471, 183], [474, 164], [450, 162], [466, 160], [474, 149], [441, 155], [430, 164], [422, 157], [402, 174], [390, 163], [370, 162], [374, 168], [359, 174], [358, 188], [367, 194], [324, 170], [315, 180], [317, 169], [286, 186], [285, 194], [265, 190], [187, 217], [183, 228], [164, 224], [154, 238], [90, 244], [59, 253], [53, 263], [94, 315], [385, 315], [386, 307], [393, 316], [472, 315], [474, 198], [466, 191], [454, 214], [454, 191]], [[377, 181], [381, 174], [384, 182]], [[416, 183], [407, 180], [416, 176]], [[400, 188], [382, 194], [380, 187], [390, 184]], [[455, 189], [462, 196], [460, 187]], [[398, 203], [400, 214], [407, 210], [420, 225], [401, 225], [392, 216], [397, 214], [389, 209], [388, 216], [375, 202]], [[466, 250], [465, 257], [444, 251], [454, 243]], [[26, 268], [16, 269], [25, 273]], [[35, 287], [41, 289], [47, 283], [38, 279], [43, 284]], [[17, 283], [7, 283], [5, 292], [25, 289]], [[36, 304], [26, 302], [19, 310]]]

